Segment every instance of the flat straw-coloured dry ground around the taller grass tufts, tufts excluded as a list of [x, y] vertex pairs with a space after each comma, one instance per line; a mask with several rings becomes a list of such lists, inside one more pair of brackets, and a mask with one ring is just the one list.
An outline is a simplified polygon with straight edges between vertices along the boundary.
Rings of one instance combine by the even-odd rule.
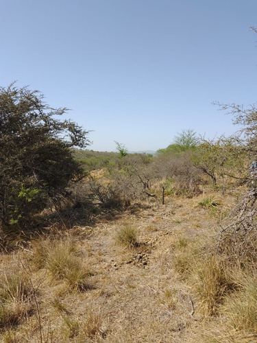
[[[223, 210], [232, 205], [230, 197], [215, 197]], [[62, 233], [75, 240], [78, 256], [90, 270], [84, 292], [72, 292], [44, 268], [35, 269], [33, 248], [1, 255], [2, 273], [19, 268], [29, 274], [39, 306], [3, 333], [1, 342], [257, 342], [230, 340], [220, 318], [203, 320], [191, 281], [178, 271], [181, 265], [176, 268], [180, 249], [210, 244], [217, 233], [217, 215], [198, 206], [202, 198], [169, 198], [159, 207], [153, 202]], [[135, 247], [115, 239], [124, 224], [138, 231]], [[217, 326], [221, 329], [215, 333]]]

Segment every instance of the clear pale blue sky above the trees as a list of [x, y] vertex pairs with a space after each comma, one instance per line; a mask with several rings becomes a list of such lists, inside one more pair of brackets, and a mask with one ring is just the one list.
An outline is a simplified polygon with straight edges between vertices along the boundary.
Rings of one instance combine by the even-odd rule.
[[212, 102], [256, 102], [257, 0], [0, 0], [0, 84], [71, 108], [89, 149], [230, 135]]

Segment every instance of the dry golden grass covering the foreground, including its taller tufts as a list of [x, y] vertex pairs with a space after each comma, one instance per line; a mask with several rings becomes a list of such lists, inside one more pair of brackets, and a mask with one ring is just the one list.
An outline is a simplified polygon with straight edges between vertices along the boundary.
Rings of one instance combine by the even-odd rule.
[[[0, 342], [40, 342], [38, 314], [44, 343], [254, 342], [255, 272], [207, 254], [217, 224], [201, 200], [167, 197], [88, 236], [66, 230], [0, 255]], [[11, 272], [21, 261], [29, 274]]]

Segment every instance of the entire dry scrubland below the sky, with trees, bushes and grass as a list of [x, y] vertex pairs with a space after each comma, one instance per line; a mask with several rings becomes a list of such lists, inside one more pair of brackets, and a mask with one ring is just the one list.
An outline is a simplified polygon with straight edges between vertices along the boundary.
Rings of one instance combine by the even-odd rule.
[[257, 341], [257, 111], [230, 110], [234, 137], [93, 152], [1, 88], [1, 342]]

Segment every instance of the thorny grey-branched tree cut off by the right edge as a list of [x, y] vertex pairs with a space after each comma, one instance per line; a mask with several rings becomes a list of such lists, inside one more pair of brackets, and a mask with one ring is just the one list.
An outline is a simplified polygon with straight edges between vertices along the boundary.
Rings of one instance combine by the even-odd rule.
[[[256, 27], [251, 29], [257, 33]], [[234, 115], [234, 123], [241, 126], [236, 137], [238, 147], [247, 154], [249, 161], [257, 159], [257, 107], [256, 104], [245, 108], [236, 104], [220, 104], [223, 110]], [[249, 166], [248, 166], [249, 167]], [[229, 250], [242, 259], [256, 261], [257, 244], [257, 181], [249, 174], [245, 179], [248, 190], [243, 195], [241, 202], [234, 208], [228, 218], [228, 224], [222, 228], [219, 237], [219, 249]]]

